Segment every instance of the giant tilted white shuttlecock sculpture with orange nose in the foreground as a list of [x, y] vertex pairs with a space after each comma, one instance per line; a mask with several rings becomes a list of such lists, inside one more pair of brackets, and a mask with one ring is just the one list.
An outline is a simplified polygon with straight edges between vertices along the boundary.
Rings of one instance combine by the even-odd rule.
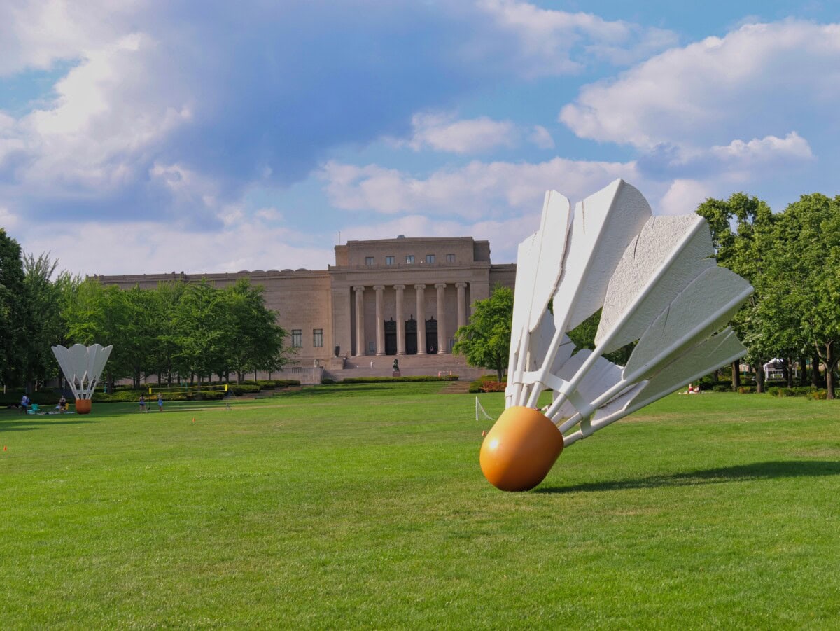
[[[743, 357], [724, 326], [752, 292], [717, 266], [698, 215], [654, 217], [622, 180], [574, 213], [547, 192], [540, 227], [517, 252], [506, 409], [481, 444], [487, 480], [527, 491], [564, 447]], [[575, 352], [566, 333], [598, 309], [596, 349]], [[625, 366], [602, 356], [632, 342]], [[538, 410], [546, 389], [553, 402]]]

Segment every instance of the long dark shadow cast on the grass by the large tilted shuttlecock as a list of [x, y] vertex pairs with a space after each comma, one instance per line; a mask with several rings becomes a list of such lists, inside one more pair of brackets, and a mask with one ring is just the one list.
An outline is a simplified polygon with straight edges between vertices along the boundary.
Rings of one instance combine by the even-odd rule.
[[751, 465], [725, 466], [717, 469], [686, 471], [670, 476], [649, 476], [636, 480], [586, 482], [572, 486], [543, 486], [535, 493], [574, 493], [621, 491], [623, 489], [659, 488], [661, 486], [695, 486], [722, 484], [744, 480], [769, 480], [777, 477], [837, 476], [840, 462], [827, 460], [774, 460]]

